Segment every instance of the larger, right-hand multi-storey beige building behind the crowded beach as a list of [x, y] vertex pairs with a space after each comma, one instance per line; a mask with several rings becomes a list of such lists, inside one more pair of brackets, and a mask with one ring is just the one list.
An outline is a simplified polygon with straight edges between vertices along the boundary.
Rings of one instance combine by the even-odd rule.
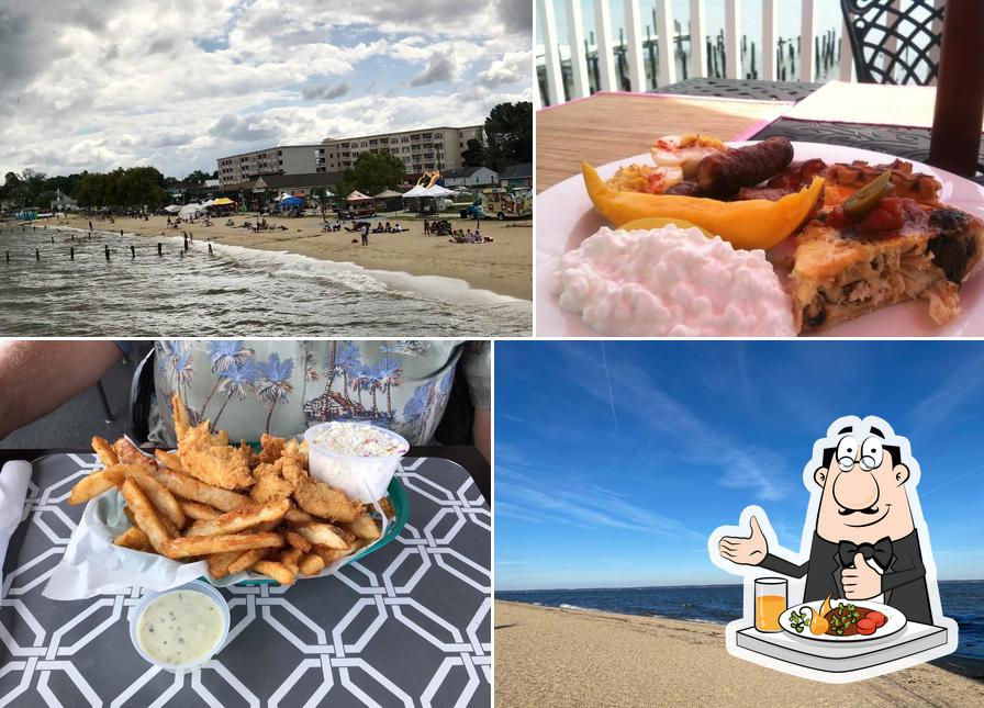
[[407, 175], [427, 170], [450, 170], [462, 166], [461, 153], [468, 141], [482, 141], [481, 125], [427, 127], [378, 135], [322, 141], [317, 171], [343, 171], [362, 153], [390, 153], [403, 161]]

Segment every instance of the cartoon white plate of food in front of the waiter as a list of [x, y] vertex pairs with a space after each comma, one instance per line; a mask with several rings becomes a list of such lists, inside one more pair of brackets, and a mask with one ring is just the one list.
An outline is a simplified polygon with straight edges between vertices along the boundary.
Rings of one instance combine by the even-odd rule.
[[[803, 639], [852, 643], [888, 637], [906, 623], [905, 615], [899, 610], [872, 600], [835, 599], [830, 600], [830, 609], [823, 610], [824, 600], [790, 607], [780, 615], [779, 625]], [[815, 620], [821, 611], [826, 621], [818, 626]]]

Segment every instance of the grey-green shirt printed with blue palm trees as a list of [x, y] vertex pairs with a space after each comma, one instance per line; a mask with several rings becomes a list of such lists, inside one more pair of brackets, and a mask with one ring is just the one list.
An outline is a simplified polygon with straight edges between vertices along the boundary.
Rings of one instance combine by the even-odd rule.
[[150, 441], [174, 446], [170, 401], [192, 423], [209, 419], [232, 440], [294, 436], [326, 420], [365, 420], [427, 445], [463, 367], [476, 408], [490, 407], [488, 341], [160, 340]]

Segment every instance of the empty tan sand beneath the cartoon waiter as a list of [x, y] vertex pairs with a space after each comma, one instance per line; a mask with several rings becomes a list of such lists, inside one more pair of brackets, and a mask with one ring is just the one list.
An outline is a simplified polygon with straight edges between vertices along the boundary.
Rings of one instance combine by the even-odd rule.
[[847, 685], [735, 659], [720, 625], [495, 603], [496, 706], [982, 706], [933, 665]]

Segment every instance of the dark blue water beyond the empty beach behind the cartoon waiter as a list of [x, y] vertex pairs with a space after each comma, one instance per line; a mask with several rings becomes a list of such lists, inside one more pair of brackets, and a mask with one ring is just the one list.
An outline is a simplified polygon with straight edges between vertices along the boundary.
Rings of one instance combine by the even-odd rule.
[[[960, 627], [957, 654], [984, 660], [984, 581], [940, 582], [939, 588], [943, 614]], [[495, 599], [719, 625], [741, 616], [741, 585], [499, 591]]]

